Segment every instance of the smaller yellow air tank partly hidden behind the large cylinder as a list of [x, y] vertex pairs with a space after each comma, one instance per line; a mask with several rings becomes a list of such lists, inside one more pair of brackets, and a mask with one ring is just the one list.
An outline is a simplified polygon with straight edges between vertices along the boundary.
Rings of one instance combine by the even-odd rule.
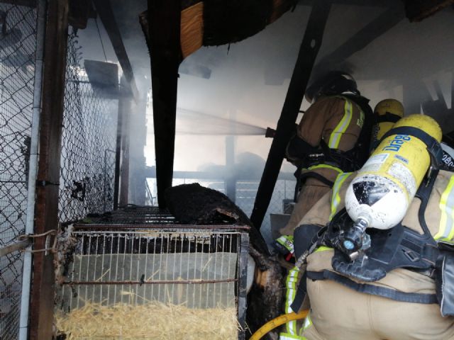
[[404, 106], [395, 99], [384, 99], [374, 108], [374, 125], [370, 140], [371, 150], [377, 147], [383, 135], [392, 128], [394, 123], [404, 117]]

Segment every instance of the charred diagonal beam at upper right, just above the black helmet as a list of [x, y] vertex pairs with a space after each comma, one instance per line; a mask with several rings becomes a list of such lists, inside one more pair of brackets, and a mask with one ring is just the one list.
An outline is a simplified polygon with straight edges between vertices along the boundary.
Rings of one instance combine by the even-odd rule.
[[323, 57], [323, 59], [316, 64], [314, 74], [326, 69], [336, 69], [348, 57], [362, 50], [370, 44], [370, 42], [379, 38], [384, 33], [387, 33], [391, 28], [397, 25], [405, 17], [404, 7], [400, 1], [394, 1], [392, 6], [381, 13], [377, 18], [372, 20], [361, 30], [358, 31], [353, 37], [348, 39], [331, 54]]

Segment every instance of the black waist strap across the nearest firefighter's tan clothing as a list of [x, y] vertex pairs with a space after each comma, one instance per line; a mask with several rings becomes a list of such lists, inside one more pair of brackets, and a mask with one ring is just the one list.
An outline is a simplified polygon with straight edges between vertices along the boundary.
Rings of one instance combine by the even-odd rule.
[[[384, 288], [377, 285], [369, 285], [367, 283], [357, 283], [350, 278], [346, 278], [333, 271], [307, 271], [307, 278], [311, 280], [333, 280], [345, 287], [356, 290], [360, 293], [377, 295], [382, 297], [388, 297], [389, 299], [401, 301], [401, 302], [412, 302], [412, 303], [424, 303], [431, 304], [437, 303], [437, 297], [435, 294], [423, 294], [423, 293], [404, 293], [399, 292], [391, 288]], [[293, 309], [293, 305], [292, 305]]]

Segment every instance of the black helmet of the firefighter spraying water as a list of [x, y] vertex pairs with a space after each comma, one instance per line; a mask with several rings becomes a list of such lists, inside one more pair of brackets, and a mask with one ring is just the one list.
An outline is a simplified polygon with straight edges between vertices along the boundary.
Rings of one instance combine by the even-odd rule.
[[360, 91], [356, 86], [356, 81], [353, 77], [342, 71], [331, 71], [316, 79], [311, 86], [306, 89], [306, 99], [313, 102], [319, 96], [334, 96], [350, 92], [360, 96]]

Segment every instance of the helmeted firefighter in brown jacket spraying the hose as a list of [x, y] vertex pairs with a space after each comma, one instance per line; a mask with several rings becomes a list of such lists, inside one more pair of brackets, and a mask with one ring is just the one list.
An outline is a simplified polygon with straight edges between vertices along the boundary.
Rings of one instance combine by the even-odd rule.
[[329, 72], [309, 86], [306, 99], [312, 105], [287, 146], [287, 160], [297, 166], [299, 195], [282, 235], [293, 234], [338, 174], [359, 169], [368, 156], [372, 110], [353, 77]]

